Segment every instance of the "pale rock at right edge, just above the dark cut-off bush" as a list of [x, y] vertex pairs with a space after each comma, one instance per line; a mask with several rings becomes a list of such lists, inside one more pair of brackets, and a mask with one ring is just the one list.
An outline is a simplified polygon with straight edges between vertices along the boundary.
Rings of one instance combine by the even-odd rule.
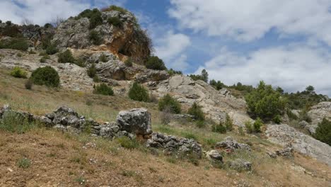
[[318, 103], [317, 105], [312, 106], [307, 114], [312, 122], [310, 125], [306, 126], [306, 128], [311, 134], [314, 134], [318, 127], [318, 123], [322, 122], [323, 118], [331, 120], [331, 102]]

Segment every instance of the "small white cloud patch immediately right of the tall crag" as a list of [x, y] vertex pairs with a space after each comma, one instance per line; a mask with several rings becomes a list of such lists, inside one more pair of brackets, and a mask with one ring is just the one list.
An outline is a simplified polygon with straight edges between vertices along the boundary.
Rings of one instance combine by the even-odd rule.
[[165, 61], [167, 67], [183, 70], [187, 68], [187, 56], [182, 53], [190, 46], [191, 41], [187, 35], [173, 33], [170, 30], [161, 38], [156, 38], [156, 55]]

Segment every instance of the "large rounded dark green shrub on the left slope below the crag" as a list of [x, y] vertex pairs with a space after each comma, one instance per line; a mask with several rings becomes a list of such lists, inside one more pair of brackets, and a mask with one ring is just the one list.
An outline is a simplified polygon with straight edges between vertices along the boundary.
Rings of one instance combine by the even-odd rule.
[[45, 85], [51, 87], [59, 86], [59, 74], [57, 71], [50, 67], [39, 67], [33, 71], [30, 79], [33, 81], [33, 84]]

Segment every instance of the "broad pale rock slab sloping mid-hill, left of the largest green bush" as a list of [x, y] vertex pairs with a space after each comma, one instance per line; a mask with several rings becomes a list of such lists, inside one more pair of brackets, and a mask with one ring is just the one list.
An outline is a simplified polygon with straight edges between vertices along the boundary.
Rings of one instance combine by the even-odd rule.
[[245, 101], [235, 98], [229, 91], [217, 91], [204, 81], [193, 81], [184, 75], [175, 75], [161, 81], [154, 93], [163, 96], [172, 93], [177, 100], [186, 106], [197, 102], [208, 118], [219, 123], [226, 120], [226, 113], [233, 119], [233, 124], [245, 126], [245, 121], [252, 120], [246, 114]]

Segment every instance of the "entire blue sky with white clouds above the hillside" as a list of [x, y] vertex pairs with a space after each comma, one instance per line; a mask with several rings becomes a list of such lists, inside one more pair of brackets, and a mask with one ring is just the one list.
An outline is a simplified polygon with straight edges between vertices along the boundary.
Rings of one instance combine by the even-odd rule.
[[329, 0], [1, 0], [0, 19], [43, 24], [110, 4], [136, 14], [168, 67], [331, 96]]

